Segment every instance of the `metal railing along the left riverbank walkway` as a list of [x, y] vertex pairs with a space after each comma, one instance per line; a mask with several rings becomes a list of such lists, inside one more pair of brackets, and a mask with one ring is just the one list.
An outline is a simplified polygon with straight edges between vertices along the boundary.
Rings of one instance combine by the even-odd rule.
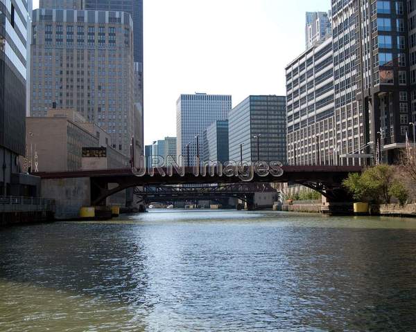
[[54, 211], [54, 199], [39, 197], [0, 196], [0, 212]]

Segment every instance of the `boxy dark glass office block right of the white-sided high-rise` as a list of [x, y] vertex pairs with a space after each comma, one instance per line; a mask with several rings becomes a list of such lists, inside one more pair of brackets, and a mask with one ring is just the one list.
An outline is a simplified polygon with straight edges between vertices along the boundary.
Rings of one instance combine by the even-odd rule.
[[230, 160], [286, 163], [286, 97], [250, 95], [229, 112], [228, 123]]

